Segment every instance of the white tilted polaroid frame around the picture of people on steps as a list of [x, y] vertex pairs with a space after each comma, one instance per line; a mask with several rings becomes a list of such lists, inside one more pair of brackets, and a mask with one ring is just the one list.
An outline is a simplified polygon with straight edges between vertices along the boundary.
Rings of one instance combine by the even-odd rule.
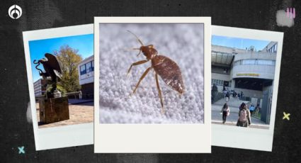
[[[272, 101], [271, 101], [271, 114], [270, 116], [270, 123], [268, 128], [243, 128], [237, 127], [236, 123], [231, 125], [224, 125], [224, 124], [216, 124], [212, 120], [212, 145], [220, 146], [220, 147], [235, 147], [235, 148], [242, 148], [242, 149], [249, 149], [249, 150], [263, 150], [263, 151], [270, 151], [273, 147], [273, 133], [274, 133], [274, 124], [275, 124], [275, 116], [276, 116], [276, 104], [277, 104], [277, 96], [278, 96], [278, 82], [279, 82], [279, 74], [280, 74], [280, 63], [281, 63], [281, 53], [283, 47], [283, 33], [280, 32], [273, 32], [273, 31], [266, 31], [266, 30], [252, 30], [252, 29], [245, 29], [245, 28], [232, 28], [232, 27], [225, 27], [225, 26], [212, 26], [212, 37], [213, 36], [221, 36], [227, 38], [242, 38], [242, 39], [251, 39], [251, 40], [266, 40], [270, 43], [277, 43], [276, 48], [273, 50], [276, 52], [276, 63], [270, 63], [264, 59], [268, 63], [265, 64], [273, 64], [275, 65], [275, 74], [273, 76], [273, 85], [271, 88], [273, 91], [272, 94]], [[268, 45], [266, 45], [266, 50], [261, 50], [263, 52], [268, 52]], [[235, 48], [234, 48], [235, 49]], [[244, 51], [249, 49], [244, 49]], [[234, 50], [239, 51], [239, 50]], [[258, 50], [257, 50], [258, 51]], [[232, 52], [230, 52], [232, 53]], [[255, 58], [255, 57], [254, 57]], [[254, 59], [251, 58], [251, 59]], [[251, 61], [251, 59], [249, 59]], [[213, 59], [212, 59], [213, 60]], [[235, 62], [235, 60], [234, 60]], [[236, 63], [235, 63], [236, 64]], [[241, 63], [242, 64], [242, 63]], [[251, 64], [251, 63], [246, 63]], [[240, 64], [239, 64], [240, 65]], [[240, 69], [239, 71], [243, 71]], [[240, 74], [230, 74], [230, 75], [237, 75], [237, 76], [259, 76], [266, 75], [266, 74], [254, 74], [253, 70], [250, 69], [249, 72], [240, 73]], [[213, 70], [212, 70], [213, 72]], [[222, 73], [222, 72], [221, 72]], [[249, 73], [249, 74], [248, 74]], [[213, 75], [212, 75], [213, 76]], [[234, 76], [233, 76], [234, 77]], [[248, 77], [250, 79], [250, 77]], [[252, 79], [252, 77], [251, 77]], [[224, 84], [225, 86], [225, 84]], [[240, 93], [240, 91], [238, 92]], [[255, 94], [255, 93], [254, 93]], [[230, 97], [231, 98], [234, 98]], [[253, 102], [253, 101], [252, 101]], [[256, 105], [256, 103], [255, 103]], [[216, 111], [221, 111], [222, 106], [217, 108]], [[235, 110], [237, 108], [231, 108], [230, 106], [230, 115], [235, 114], [237, 115], [238, 119], [238, 112], [231, 113], [231, 110]], [[213, 111], [212, 106], [212, 111]], [[213, 113], [212, 113], [213, 115]], [[222, 114], [220, 115], [220, 119], [222, 119]], [[227, 121], [226, 121], [227, 124]], [[252, 125], [252, 124], [251, 124]]]

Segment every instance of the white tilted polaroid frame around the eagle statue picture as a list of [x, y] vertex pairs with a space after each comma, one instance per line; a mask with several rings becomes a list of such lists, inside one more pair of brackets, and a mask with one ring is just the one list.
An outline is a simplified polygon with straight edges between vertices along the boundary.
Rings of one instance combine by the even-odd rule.
[[[31, 30], [23, 32], [28, 87], [30, 94], [31, 116], [33, 119], [33, 131], [36, 150], [49, 150], [61, 147], [72, 147], [93, 144], [93, 123], [81, 123], [77, 125], [63, 125], [50, 128], [39, 128], [35, 103], [35, 91], [33, 86], [33, 72], [30, 60], [30, 45], [33, 40], [52, 38], [64, 38], [77, 35], [90, 35], [93, 37], [93, 24], [81, 26], [69, 26], [62, 28], [50, 28], [43, 30]], [[93, 42], [93, 38], [92, 38]], [[92, 43], [93, 45], [93, 43]], [[93, 55], [93, 50], [91, 50]], [[42, 54], [44, 55], [44, 54]], [[40, 60], [41, 58], [37, 58]], [[42, 64], [40, 65], [42, 67]], [[93, 106], [92, 106], [93, 107]]]

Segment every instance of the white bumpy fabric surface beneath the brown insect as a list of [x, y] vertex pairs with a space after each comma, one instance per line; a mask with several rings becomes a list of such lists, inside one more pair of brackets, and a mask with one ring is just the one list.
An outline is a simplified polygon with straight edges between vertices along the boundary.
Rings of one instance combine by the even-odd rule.
[[[100, 24], [99, 30], [100, 123], [203, 123], [203, 24]], [[142, 54], [137, 57], [138, 50], [124, 50], [140, 47], [127, 30], [181, 69], [186, 86], [181, 96], [159, 77], [164, 114], [153, 69], [130, 96], [151, 62], [132, 67], [126, 77], [133, 62], [146, 60]]]

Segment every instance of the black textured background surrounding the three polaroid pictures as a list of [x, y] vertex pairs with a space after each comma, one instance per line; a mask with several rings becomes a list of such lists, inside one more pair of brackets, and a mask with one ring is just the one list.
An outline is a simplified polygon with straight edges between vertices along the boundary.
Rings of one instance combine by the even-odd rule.
[[[23, 9], [18, 20], [7, 13], [13, 4]], [[291, 28], [276, 23], [276, 11], [286, 7], [296, 10]], [[298, 0], [1, 1], [0, 162], [301, 162], [300, 11]], [[25, 115], [29, 96], [22, 31], [93, 23], [93, 16], [211, 16], [213, 25], [284, 32], [273, 152], [212, 147], [212, 154], [94, 154], [93, 145], [36, 152]], [[282, 119], [283, 111], [290, 120]], [[25, 146], [25, 154], [18, 154], [19, 146]]]

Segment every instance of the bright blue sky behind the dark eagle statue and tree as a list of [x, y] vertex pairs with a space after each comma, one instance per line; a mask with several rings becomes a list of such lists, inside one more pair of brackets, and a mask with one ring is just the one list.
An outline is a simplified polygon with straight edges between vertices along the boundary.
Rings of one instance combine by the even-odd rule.
[[[29, 41], [31, 70], [33, 72], [33, 82], [37, 81], [40, 77], [38, 69], [35, 69], [36, 64], [33, 60], [40, 60], [45, 57], [45, 53], [53, 54], [55, 50], [63, 45], [69, 45], [73, 49], [79, 50], [79, 55], [83, 60], [93, 55], [93, 34], [89, 35], [74, 35], [62, 38], [50, 38], [45, 40], [32, 40]], [[42, 64], [38, 67], [43, 69]]]

